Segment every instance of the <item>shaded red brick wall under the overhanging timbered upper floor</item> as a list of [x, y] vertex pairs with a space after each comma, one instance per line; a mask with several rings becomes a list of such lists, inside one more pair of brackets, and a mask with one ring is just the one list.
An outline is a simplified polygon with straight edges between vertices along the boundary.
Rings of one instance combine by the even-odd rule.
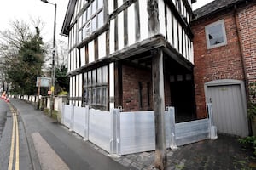
[[[152, 111], [154, 109], [153, 104], [153, 92], [152, 92], [152, 77], [151, 71], [145, 69], [139, 69], [137, 67], [123, 65], [123, 110], [124, 111]], [[139, 105], [139, 85], [138, 82], [142, 82], [142, 96], [143, 107]], [[150, 84], [149, 96], [150, 105], [148, 106], [148, 88], [147, 83]], [[165, 101], [169, 105], [171, 103], [170, 96], [170, 82], [165, 81]]]

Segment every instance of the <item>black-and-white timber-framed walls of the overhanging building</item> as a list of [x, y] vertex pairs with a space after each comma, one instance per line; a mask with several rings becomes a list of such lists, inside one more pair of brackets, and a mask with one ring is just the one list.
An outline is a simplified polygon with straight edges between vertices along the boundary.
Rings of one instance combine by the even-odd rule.
[[83, 106], [84, 77], [89, 86], [93, 75], [101, 75], [97, 78], [107, 89], [101, 91], [107, 99], [102, 109], [117, 107], [118, 61], [155, 48], [192, 70], [191, 3], [194, 0], [70, 0], [61, 31], [69, 40], [70, 102]]

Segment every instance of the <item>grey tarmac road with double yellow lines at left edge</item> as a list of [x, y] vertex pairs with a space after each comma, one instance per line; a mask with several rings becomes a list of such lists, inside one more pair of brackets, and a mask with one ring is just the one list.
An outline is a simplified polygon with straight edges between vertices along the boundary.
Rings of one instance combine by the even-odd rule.
[[26, 133], [20, 115], [9, 103], [0, 99], [0, 167], [32, 169]]

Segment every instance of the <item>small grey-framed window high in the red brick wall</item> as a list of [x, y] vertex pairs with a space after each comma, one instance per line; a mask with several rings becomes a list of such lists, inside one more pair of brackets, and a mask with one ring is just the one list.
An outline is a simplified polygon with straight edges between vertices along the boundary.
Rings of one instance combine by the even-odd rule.
[[207, 48], [217, 48], [227, 44], [224, 20], [206, 26]]

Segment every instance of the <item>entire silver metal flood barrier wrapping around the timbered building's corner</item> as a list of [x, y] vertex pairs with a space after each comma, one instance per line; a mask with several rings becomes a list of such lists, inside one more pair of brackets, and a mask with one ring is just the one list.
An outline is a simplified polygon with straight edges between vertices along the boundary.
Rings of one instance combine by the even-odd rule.
[[[155, 150], [154, 111], [100, 111], [73, 105], [64, 105], [63, 110], [65, 126], [108, 151], [110, 156]], [[165, 112], [166, 148], [177, 149], [177, 145], [213, 139], [209, 118], [175, 123], [174, 112], [173, 107]], [[212, 112], [209, 114], [212, 118]]]

